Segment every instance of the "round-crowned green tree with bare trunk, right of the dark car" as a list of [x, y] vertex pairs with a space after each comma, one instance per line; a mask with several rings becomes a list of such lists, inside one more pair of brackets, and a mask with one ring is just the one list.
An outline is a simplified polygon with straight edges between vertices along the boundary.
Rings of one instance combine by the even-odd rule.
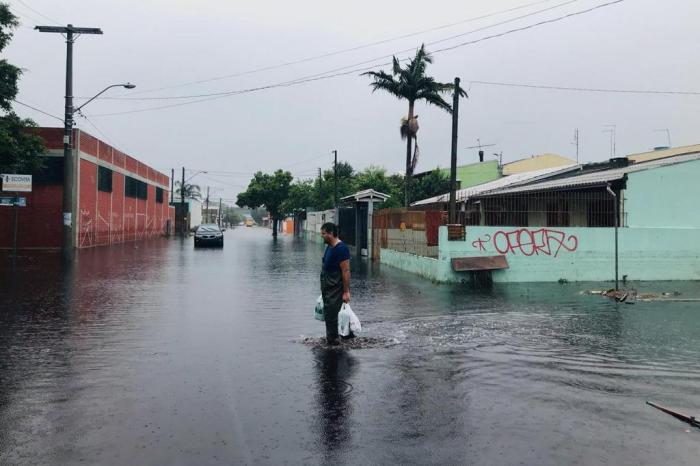
[[292, 174], [288, 171], [277, 170], [269, 175], [257, 172], [250, 180], [248, 188], [238, 194], [236, 204], [240, 207], [257, 209], [265, 206], [272, 219], [272, 236], [277, 236], [277, 223], [283, 219], [283, 203], [289, 197]]

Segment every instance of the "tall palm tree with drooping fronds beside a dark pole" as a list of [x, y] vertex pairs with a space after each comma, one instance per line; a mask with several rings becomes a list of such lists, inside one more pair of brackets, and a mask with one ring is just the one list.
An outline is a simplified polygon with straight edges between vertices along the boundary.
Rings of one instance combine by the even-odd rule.
[[[410, 183], [413, 170], [418, 163], [418, 115], [413, 114], [415, 103], [418, 100], [435, 105], [448, 113], [452, 113], [452, 106], [442, 98], [441, 94], [448, 94], [454, 91], [454, 84], [439, 83], [425, 74], [428, 63], [433, 62], [433, 57], [425, 50], [422, 44], [416, 51], [415, 57], [411, 58], [405, 67], [401, 67], [396, 56], [393, 57], [391, 74], [384, 71], [368, 71], [362, 76], [371, 76], [374, 81], [370, 84], [372, 92], [377, 90], [386, 91], [399, 99], [408, 100], [408, 116], [401, 118], [401, 139], [406, 139], [406, 179], [404, 186], [404, 202], [406, 207], [409, 203]], [[467, 93], [459, 89], [461, 96], [466, 97]], [[414, 141], [413, 153], [411, 153], [411, 142]]]

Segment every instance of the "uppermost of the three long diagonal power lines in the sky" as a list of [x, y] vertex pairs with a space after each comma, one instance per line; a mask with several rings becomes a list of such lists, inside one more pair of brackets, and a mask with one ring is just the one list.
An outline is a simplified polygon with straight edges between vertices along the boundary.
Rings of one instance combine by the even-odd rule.
[[537, 1], [537, 2], [531, 2], [531, 3], [524, 4], [524, 5], [519, 5], [519, 6], [516, 6], [516, 7], [513, 7], [513, 8], [508, 8], [508, 9], [505, 9], [505, 10], [501, 10], [501, 11], [496, 11], [496, 12], [493, 12], [493, 13], [485, 14], [485, 15], [482, 15], [482, 16], [476, 16], [476, 17], [473, 17], [473, 18], [464, 19], [464, 20], [457, 21], [457, 22], [454, 22], [454, 23], [444, 24], [444, 25], [436, 26], [436, 27], [429, 28], [429, 29], [423, 29], [423, 30], [421, 30], [421, 31], [412, 32], [412, 33], [408, 33], [408, 34], [404, 34], [404, 35], [392, 37], [392, 38], [389, 38], [389, 39], [383, 39], [383, 40], [379, 40], [379, 41], [376, 41], [376, 42], [370, 42], [370, 43], [363, 44], [363, 45], [358, 45], [358, 46], [355, 46], [355, 47], [350, 47], [350, 48], [346, 48], [346, 49], [336, 50], [336, 51], [333, 51], [333, 52], [326, 52], [326, 53], [322, 53], [322, 54], [319, 54], [319, 55], [314, 55], [314, 56], [311, 56], [311, 57], [306, 57], [306, 58], [301, 58], [301, 59], [298, 59], [298, 60], [292, 60], [292, 61], [288, 61], [288, 62], [284, 62], [284, 63], [279, 63], [279, 64], [277, 64], [277, 65], [265, 66], [265, 67], [262, 67], [262, 68], [255, 68], [255, 69], [252, 69], [252, 70], [241, 71], [241, 72], [238, 72], [238, 73], [228, 74], [228, 75], [224, 75], [224, 76], [217, 76], [217, 77], [213, 77], [213, 78], [206, 78], [206, 79], [200, 79], [200, 80], [196, 80], [196, 81], [189, 81], [189, 82], [185, 82], [185, 83], [182, 83], [182, 84], [175, 84], [175, 85], [172, 85], [172, 86], [165, 86], [165, 87], [159, 87], [159, 88], [153, 88], [153, 89], [145, 89], [145, 90], [142, 90], [142, 91], [131, 92], [131, 93], [129, 93], [129, 95], [134, 95], [134, 94], [146, 94], [146, 93], [157, 92], [157, 91], [162, 91], [162, 90], [167, 90], [167, 89], [176, 89], [176, 88], [179, 88], [179, 87], [186, 87], [186, 86], [191, 86], [191, 85], [194, 85], [194, 84], [204, 84], [204, 83], [208, 83], [208, 82], [220, 81], [220, 80], [223, 80], [223, 79], [229, 79], [229, 78], [235, 78], [235, 77], [244, 76], [244, 75], [248, 75], [248, 74], [259, 73], [259, 72], [262, 72], [262, 71], [275, 70], [275, 69], [283, 68], [283, 67], [286, 67], [286, 66], [297, 65], [297, 64], [301, 64], [301, 63], [306, 63], [306, 62], [318, 60], [318, 59], [321, 59], [321, 58], [331, 57], [331, 56], [334, 56], [334, 55], [340, 55], [340, 54], [348, 53], [348, 52], [355, 52], [355, 51], [357, 51], [357, 50], [362, 50], [362, 49], [369, 48], [369, 47], [374, 47], [374, 46], [377, 46], [377, 45], [382, 45], [382, 44], [387, 44], [387, 43], [390, 43], [390, 42], [395, 42], [395, 41], [398, 41], [398, 40], [402, 40], [402, 39], [406, 39], [406, 38], [409, 38], [409, 37], [418, 36], [418, 35], [425, 34], [425, 33], [428, 33], [428, 32], [434, 32], [434, 31], [439, 31], [439, 30], [441, 30], [441, 29], [447, 29], [447, 28], [450, 28], [450, 27], [458, 26], [458, 25], [460, 25], [460, 24], [465, 24], [465, 23], [470, 23], [470, 22], [478, 21], [478, 20], [481, 20], [481, 19], [491, 18], [491, 17], [493, 17], [493, 16], [498, 16], [498, 15], [502, 15], [502, 14], [505, 14], [505, 13], [510, 13], [510, 12], [517, 11], [517, 10], [522, 10], [522, 9], [525, 9], [525, 8], [529, 8], [529, 7], [531, 7], [531, 6], [540, 5], [540, 4], [542, 4], [542, 3], [549, 3], [549, 2], [551, 2], [551, 1], [552, 1], [552, 0], [540, 0], [540, 1]]

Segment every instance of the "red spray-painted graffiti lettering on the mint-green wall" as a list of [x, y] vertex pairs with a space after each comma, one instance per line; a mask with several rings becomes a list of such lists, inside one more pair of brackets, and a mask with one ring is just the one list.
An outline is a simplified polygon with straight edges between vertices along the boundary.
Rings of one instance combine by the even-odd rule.
[[509, 231], [499, 230], [493, 236], [485, 234], [472, 241], [472, 247], [479, 251], [487, 251], [489, 246], [499, 254], [558, 257], [560, 253], [576, 251], [578, 238], [576, 235], [550, 228], [517, 228]]

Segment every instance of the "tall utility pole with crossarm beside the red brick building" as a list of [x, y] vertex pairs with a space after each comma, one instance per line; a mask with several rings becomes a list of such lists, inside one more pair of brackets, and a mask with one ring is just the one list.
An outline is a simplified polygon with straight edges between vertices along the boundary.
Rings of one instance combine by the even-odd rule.
[[73, 160], [73, 43], [82, 34], [102, 34], [99, 28], [67, 26], [36, 26], [39, 32], [63, 34], [66, 38], [66, 96], [63, 119], [63, 257], [73, 257], [73, 189], [75, 185]]

